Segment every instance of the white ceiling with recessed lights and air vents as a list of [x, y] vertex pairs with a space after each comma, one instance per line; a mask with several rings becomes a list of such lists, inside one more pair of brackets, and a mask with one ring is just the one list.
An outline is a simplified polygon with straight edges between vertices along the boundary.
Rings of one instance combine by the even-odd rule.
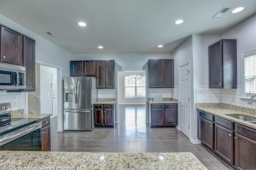
[[[232, 8], [212, 18], [223, 7]], [[219, 34], [255, 13], [256, 0], [0, 1], [0, 14], [73, 54], [171, 52], [191, 34]]]

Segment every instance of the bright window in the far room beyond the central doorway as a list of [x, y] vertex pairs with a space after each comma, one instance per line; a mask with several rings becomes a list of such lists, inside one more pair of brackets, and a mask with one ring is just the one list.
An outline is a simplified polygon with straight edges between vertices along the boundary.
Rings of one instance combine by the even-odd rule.
[[145, 76], [130, 78], [124, 76], [124, 97], [145, 97], [146, 96], [146, 83]]

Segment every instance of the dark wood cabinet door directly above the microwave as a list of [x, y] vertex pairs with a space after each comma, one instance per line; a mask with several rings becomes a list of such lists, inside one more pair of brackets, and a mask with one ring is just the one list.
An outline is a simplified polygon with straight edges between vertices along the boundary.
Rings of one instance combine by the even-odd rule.
[[23, 66], [22, 35], [1, 25], [0, 61]]

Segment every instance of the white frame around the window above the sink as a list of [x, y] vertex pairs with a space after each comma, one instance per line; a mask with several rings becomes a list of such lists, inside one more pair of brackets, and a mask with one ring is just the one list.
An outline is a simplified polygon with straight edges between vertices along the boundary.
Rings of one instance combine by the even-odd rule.
[[249, 57], [249, 56], [252, 56], [252, 55], [256, 55], [256, 49], [252, 49], [252, 50], [249, 50], [249, 51], [245, 51], [245, 52], [242, 52], [242, 76], [241, 76], [241, 80], [242, 80], [242, 96], [244, 96], [243, 98], [250, 98], [252, 95], [254, 95], [253, 93], [247, 93], [245, 92], [245, 68], [244, 68], [244, 57]]

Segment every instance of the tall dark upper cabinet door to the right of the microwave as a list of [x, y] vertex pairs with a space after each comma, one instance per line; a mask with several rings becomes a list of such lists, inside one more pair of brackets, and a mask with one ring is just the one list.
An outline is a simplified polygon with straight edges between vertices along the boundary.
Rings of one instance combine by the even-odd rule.
[[23, 58], [26, 67], [26, 89], [24, 91], [36, 91], [36, 61], [35, 61], [35, 43], [34, 39], [23, 36]]

